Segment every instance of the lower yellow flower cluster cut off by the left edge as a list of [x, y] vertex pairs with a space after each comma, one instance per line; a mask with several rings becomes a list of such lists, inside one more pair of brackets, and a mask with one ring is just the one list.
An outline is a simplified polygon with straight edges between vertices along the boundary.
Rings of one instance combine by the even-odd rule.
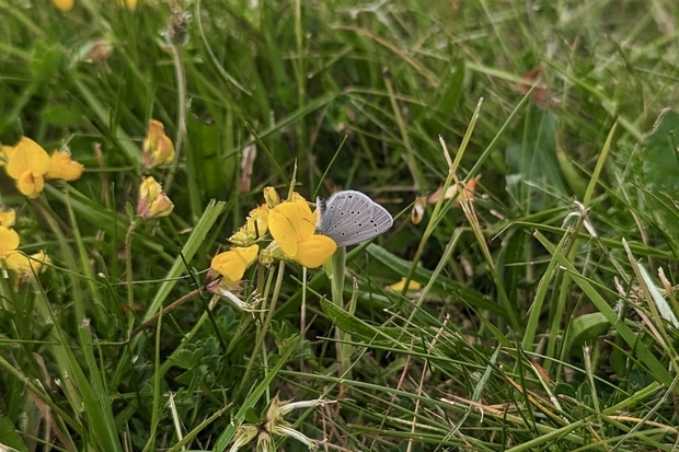
[[23, 278], [31, 278], [44, 270], [44, 264], [50, 264], [50, 260], [44, 251], [27, 256], [16, 250], [20, 239], [12, 229], [15, 221], [16, 213], [13, 209], [0, 212], [0, 267], [15, 271], [20, 282]]

